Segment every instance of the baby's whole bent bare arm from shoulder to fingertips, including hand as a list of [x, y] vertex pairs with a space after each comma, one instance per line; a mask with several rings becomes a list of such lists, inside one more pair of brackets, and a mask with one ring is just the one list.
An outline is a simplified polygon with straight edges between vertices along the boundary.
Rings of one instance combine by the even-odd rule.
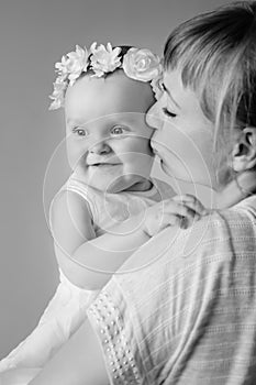
[[76, 286], [99, 289], [155, 233], [183, 218], [189, 226], [203, 212], [194, 197], [168, 199], [149, 208], [146, 217], [142, 212], [96, 238], [88, 205], [76, 193], [64, 193], [55, 201], [52, 218], [59, 266]]

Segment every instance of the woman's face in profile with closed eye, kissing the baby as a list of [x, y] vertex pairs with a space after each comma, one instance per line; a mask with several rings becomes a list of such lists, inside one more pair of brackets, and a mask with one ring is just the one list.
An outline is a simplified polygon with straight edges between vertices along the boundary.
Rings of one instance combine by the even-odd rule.
[[147, 113], [156, 129], [152, 147], [163, 170], [192, 184], [216, 188], [213, 123], [203, 114], [197, 95], [185, 88], [178, 69], [164, 74], [163, 94]]

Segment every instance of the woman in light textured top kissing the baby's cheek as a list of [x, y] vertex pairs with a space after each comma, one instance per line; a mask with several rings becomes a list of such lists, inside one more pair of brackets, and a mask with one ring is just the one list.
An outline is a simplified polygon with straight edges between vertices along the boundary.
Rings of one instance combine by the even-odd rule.
[[170, 34], [152, 144], [167, 174], [213, 187], [219, 210], [140, 249], [31, 384], [256, 383], [255, 85], [256, 2]]

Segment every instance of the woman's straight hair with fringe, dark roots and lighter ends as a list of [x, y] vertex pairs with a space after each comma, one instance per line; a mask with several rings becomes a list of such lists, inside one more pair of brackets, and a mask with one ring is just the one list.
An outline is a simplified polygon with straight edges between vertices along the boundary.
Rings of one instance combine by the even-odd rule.
[[[183, 86], [198, 95], [215, 125], [221, 172], [229, 164], [234, 130], [256, 128], [256, 1], [235, 2], [180, 24], [164, 55], [165, 69], [179, 68]], [[233, 177], [231, 169], [226, 173], [225, 182]]]

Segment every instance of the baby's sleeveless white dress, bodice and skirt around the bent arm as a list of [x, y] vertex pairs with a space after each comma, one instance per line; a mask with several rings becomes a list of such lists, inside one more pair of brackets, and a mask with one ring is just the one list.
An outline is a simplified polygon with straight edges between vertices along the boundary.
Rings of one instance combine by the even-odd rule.
[[[171, 187], [165, 182], [156, 178], [152, 182], [153, 187], [147, 191], [105, 194], [86, 185], [73, 174], [54, 199], [64, 190], [77, 193], [86, 199], [91, 210], [96, 235], [100, 237], [131, 215], [137, 215], [155, 202], [174, 195]], [[86, 319], [86, 311], [98, 294], [98, 290], [86, 290], [75, 286], [59, 271], [59, 285], [38, 324], [24, 341], [0, 361], [0, 372], [10, 369], [43, 367]]]

